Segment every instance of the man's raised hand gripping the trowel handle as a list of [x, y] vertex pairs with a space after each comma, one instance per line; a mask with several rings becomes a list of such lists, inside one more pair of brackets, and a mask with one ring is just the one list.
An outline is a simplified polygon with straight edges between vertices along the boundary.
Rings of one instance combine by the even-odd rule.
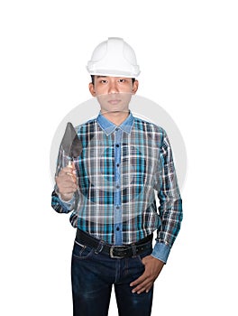
[[61, 199], [65, 201], [71, 200], [78, 188], [74, 164], [61, 169], [59, 175], [55, 177], [55, 181]]

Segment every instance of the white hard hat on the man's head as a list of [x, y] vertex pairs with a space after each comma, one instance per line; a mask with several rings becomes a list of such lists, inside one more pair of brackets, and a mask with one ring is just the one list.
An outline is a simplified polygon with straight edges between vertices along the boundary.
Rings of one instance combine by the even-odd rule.
[[90, 75], [125, 78], [135, 78], [141, 72], [133, 48], [119, 37], [109, 37], [96, 46], [87, 71]]

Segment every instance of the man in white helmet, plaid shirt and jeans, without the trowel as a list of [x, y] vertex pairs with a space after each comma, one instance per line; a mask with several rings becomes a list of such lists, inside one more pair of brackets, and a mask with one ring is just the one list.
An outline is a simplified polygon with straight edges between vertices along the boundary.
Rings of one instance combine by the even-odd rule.
[[77, 228], [74, 316], [107, 315], [113, 284], [119, 315], [151, 315], [153, 283], [182, 220], [169, 139], [160, 126], [129, 110], [140, 70], [123, 39], [100, 43], [87, 70], [101, 111], [76, 127], [82, 150], [69, 166], [62, 166], [65, 153], [59, 148], [52, 193], [53, 209], [72, 211], [70, 222]]

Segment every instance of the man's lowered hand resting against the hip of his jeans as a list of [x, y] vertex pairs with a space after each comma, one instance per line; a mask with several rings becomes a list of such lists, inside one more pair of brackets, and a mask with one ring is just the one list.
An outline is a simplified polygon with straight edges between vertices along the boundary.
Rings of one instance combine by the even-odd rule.
[[142, 264], [144, 265], [144, 273], [130, 284], [130, 286], [135, 286], [133, 293], [148, 293], [164, 266], [162, 261], [153, 256], [142, 258]]

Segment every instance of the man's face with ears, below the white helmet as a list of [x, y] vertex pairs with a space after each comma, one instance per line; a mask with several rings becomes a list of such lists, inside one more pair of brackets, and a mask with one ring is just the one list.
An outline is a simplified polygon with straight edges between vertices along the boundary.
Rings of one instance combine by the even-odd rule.
[[136, 93], [138, 81], [124, 77], [95, 76], [95, 83], [89, 90], [96, 97], [102, 113], [128, 112], [132, 95]]

